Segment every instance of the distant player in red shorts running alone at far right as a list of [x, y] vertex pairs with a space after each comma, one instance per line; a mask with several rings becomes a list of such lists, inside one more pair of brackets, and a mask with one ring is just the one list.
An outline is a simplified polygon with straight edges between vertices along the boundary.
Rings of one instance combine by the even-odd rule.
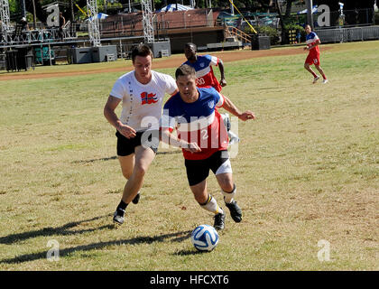
[[319, 76], [310, 68], [310, 65], [314, 64], [316, 70], [319, 70], [322, 78], [324, 79], [322, 83], [327, 83], [328, 79], [325, 76], [324, 70], [322, 70], [319, 66], [319, 36], [312, 32], [312, 28], [309, 24], [305, 26], [305, 32], [307, 33], [307, 46], [304, 47], [304, 51], [310, 51], [307, 59], [304, 63], [304, 68], [313, 75], [313, 83], [316, 83], [319, 80]]

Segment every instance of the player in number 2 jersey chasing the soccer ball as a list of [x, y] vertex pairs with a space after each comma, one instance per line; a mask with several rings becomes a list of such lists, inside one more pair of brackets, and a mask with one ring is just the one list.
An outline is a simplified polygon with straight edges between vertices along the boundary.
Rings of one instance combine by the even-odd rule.
[[[181, 65], [175, 72], [179, 93], [163, 107], [162, 142], [181, 147], [185, 159], [189, 187], [201, 208], [214, 214], [214, 227], [225, 228], [225, 212], [207, 191], [209, 170], [216, 174], [226, 207], [235, 222], [242, 220], [242, 210], [236, 203], [236, 184], [227, 153], [226, 127], [217, 107], [246, 121], [255, 119], [250, 110], [238, 108], [214, 88], [197, 88], [196, 71]], [[173, 129], [177, 135], [172, 135]]]

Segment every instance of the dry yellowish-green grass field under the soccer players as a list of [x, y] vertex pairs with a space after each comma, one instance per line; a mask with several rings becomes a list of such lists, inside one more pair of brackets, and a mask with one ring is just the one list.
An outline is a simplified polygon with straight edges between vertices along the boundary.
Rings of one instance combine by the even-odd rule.
[[[328, 47], [327, 85], [311, 85], [305, 54], [226, 63], [224, 94], [258, 119], [238, 123], [232, 159], [244, 220], [227, 215], [205, 254], [189, 234], [213, 219], [176, 149], [112, 224], [125, 180], [103, 107], [122, 73], [0, 81], [0, 270], [378, 270], [379, 42]], [[222, 204], [212, 174], [208, 190]]]

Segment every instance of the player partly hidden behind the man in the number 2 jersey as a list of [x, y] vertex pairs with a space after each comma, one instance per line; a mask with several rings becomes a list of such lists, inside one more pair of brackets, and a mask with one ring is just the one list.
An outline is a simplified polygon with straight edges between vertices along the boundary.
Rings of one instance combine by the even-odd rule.
[[[198, 48], [196, 44], [192, 42], [186, 43], [184, 46], [184, 55], [187, 61], [183, 64], [187, 64], [193, 67], [196, 71], [196, 85], [198, 88], [213, 87], [218, 92], [226, 86], [226, 79], [224, 74], [224, 62], [216, 56], [212, 55], [197, 55]], [[212, 66], [218, 66], [220, 70], [221, 79], [220, 82], [213, 72]], [[229, 136], [229, 144], [235, 144], [239, 142], [239, 137], [230, 130], [230, 118], [228, 114], [221, 114], [221, 117], [226, 126], [227, 135]]]

